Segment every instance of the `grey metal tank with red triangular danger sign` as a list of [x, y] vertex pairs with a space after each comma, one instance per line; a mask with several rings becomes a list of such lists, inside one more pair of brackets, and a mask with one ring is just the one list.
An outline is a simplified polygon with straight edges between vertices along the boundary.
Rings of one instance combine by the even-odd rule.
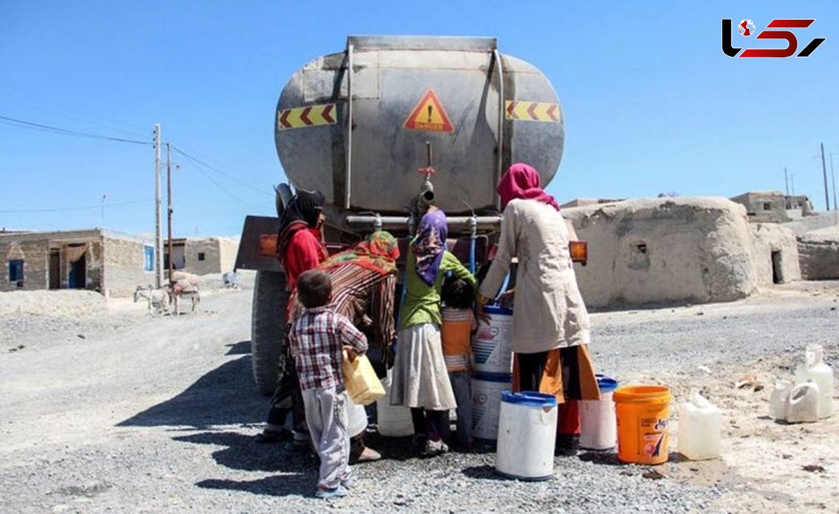
[[550, 81], [494, 38], [350, 36], [294, 72], [274, 136], [289, 181], [343, 214], [410, 210], [429, 153], [435, 205], [498, 212], [495, 186], [513, 162], [543, 186], [553, 178], [563, 121]]

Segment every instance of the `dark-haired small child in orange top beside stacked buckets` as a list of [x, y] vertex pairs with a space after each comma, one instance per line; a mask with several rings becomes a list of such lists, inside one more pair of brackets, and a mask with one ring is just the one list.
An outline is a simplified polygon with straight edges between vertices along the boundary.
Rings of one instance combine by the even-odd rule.
[[440, 338], [457, 402], [457, 444], [469, 448], [472, 446], [472, 334], [477, 331], [472, 313], [472, 286], [452, 276], [443, 284], [440, 296], [443, 300]]

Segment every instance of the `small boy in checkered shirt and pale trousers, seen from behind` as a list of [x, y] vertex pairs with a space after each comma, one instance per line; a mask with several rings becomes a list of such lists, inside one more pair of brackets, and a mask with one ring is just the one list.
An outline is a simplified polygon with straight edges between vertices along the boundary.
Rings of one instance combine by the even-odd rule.
[[289, 333], [306, 423], [320, 456], [320, 480], [315, 496], [346, 496], [350, 477], [350, 434], [347, 432], [347, 395], [341, 371], [342, 349], [367, 351], [367, 338], [347, 317], [329, 305], [332, 284], [329, 275], [310, 270], [297, 279], [297, 295], [305, 311]]

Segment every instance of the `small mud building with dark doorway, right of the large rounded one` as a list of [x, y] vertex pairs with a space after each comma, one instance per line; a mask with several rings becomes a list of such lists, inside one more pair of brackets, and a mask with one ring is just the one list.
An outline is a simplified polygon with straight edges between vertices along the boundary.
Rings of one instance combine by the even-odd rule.
[[800, 281], [795, 233], [774, 223], [752, 223], [752, 258], [758, 286]]

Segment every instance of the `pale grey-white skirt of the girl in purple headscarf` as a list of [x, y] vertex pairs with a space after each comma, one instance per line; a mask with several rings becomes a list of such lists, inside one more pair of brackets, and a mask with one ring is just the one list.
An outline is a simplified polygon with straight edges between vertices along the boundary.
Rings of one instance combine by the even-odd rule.
[[451, 391], [440, 327], [423, 323], [399, 330], [390, 404], [448, 411], [457, 406]]

